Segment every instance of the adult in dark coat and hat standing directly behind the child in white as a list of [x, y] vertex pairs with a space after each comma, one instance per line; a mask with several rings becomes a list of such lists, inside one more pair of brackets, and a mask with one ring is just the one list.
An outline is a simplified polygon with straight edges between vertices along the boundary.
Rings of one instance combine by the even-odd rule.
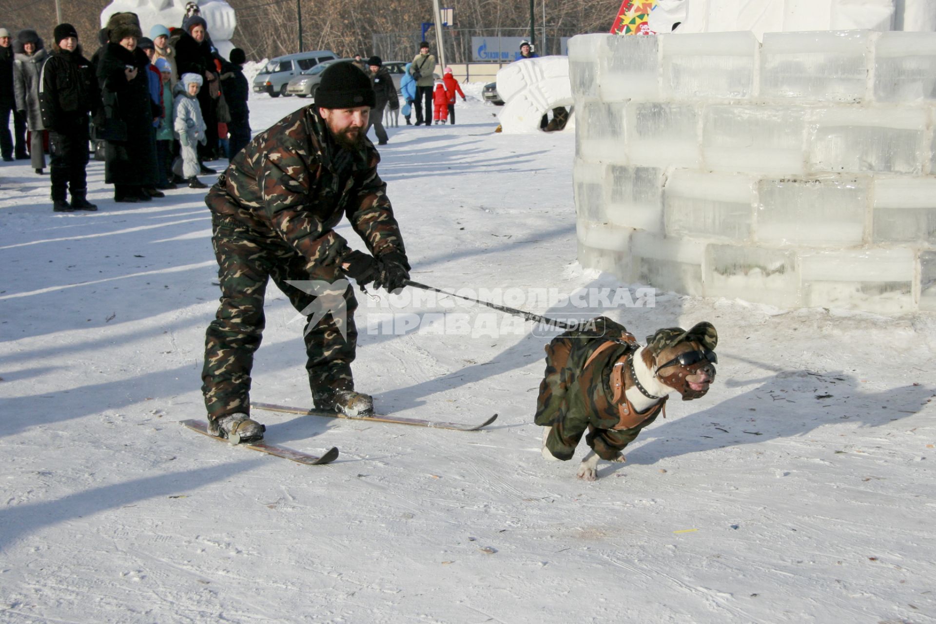
[[[178, 34], [178, 36], [177, 36]], [[199, 167], [202, 174], [217, 173], [201, 161], [214, 160], [218, 150], [217, 93], [219, 88], [217, 66], [214, 65], [208, 22], [198, 15], [186, 17], [182, 28], [172, 33], [176, 51], [176, 67], [179, 76], [197, 74], [205, 79], [205, 86], [198, 92], [198, 106], [205, 120], [205, 144], [198, 146]], [[212, 93], [214, 95], [212, 95]]]

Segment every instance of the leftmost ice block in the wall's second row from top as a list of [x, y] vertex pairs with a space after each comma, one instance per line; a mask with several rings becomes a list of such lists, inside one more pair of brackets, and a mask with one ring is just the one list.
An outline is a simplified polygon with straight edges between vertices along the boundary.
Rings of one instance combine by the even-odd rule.
[[625, 105], [588, 102], [576, 107], [576, 153], [592, 163], [627, 164]]

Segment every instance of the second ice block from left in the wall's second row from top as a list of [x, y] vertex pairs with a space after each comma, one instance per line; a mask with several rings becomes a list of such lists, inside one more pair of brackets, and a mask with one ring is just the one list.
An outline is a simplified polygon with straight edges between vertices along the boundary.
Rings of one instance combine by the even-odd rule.
[[626, 123], [630, 163], [645, 167], [698, 167], [699, 114], [692, 104], [632, 102]]

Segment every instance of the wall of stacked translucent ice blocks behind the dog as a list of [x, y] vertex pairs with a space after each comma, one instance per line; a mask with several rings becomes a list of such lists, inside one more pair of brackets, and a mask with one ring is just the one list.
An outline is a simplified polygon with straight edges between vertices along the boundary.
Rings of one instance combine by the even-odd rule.
[[936, 311], [936, 33], [576, 36], [569, 79], [583, 266]]

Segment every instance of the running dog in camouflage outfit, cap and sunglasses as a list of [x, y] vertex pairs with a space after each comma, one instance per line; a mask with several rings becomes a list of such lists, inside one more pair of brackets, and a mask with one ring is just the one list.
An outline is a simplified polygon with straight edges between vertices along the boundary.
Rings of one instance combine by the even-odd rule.
[[534, 422], [544, 427], [541, 453], [567, 461], [582, 435], [591, 447], [578, 478], [594, 481], [599, 458], [624, 461], [621, 451], [660, 414], [666, 399], [704, 397], [715, 381], [718, 332], [708, 322], [669, 327], [641, 346], [606, 317], [567, 331], [546, 346], [546, 374]]

